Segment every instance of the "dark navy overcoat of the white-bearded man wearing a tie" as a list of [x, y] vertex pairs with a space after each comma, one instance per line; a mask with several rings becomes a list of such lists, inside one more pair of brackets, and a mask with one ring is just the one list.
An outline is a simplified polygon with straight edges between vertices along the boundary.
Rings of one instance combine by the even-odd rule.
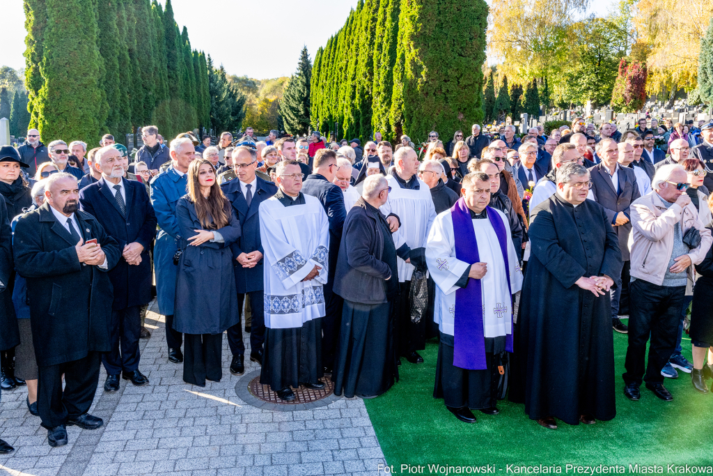
[[103, 178], [79, 192], [81, 209], [94, 216], [106, 233], [118, 241], [122, 253], [128, 243], [143, 245], [139, 265], [130, 265], [122, 256], [109, 271], [114, 287], [113, 310], [150, 302], [153, 275], [148, 250], [156, 233], [156, 216], [143, 183], [121, 180], [126, 194], [126, 216], [114, 198], [112, 184]]

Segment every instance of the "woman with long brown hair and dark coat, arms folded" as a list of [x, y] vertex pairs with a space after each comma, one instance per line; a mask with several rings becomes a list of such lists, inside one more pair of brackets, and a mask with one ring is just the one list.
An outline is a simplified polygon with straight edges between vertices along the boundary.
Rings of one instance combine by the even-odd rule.
[[[176, 206], [181, 249], [173, 328], [185, 334], [183, 380], [205, 387], [222, 378], [222, 333], [238, 323], [230, 245], [240, 221], [205, 159], [190, 163], [188, 194]], [[198, 233], [198, 234], [196, 234]]]

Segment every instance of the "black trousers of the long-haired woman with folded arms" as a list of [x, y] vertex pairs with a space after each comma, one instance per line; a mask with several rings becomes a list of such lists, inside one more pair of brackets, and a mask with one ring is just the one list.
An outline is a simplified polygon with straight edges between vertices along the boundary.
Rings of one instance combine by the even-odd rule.
[[222, 378], [222, 333], [186, 334], [183, 348], [183, 381], [205, 387], [205, 380]]

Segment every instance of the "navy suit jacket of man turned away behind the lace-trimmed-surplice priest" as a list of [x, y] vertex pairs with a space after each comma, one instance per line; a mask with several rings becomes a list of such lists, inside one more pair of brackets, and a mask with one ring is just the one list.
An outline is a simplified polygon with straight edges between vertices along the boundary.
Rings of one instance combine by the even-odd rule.
[[334, 281], [334, 270], [337, 268], [339, 243], [342, 241], [342, 228], [347, 219], [347, 209], [344, 208], [344, 192], [319, 173], [312, 173], [302, 183], [302, 193], [317, 197], [329, 218], [329, 282], [331, 288]]

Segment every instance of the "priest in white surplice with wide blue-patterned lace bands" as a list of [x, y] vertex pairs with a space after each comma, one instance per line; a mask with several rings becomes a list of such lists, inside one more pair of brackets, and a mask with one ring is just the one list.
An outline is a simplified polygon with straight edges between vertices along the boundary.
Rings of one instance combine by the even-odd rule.
[[324, 388], [319, 378], [329, 220], [317, 198], [300, 192], [297, 161], [279, 162], [275, 183], [279, 191], [260, 203], [266, 328], [260, 383], [292, 401], [290, 387]]

